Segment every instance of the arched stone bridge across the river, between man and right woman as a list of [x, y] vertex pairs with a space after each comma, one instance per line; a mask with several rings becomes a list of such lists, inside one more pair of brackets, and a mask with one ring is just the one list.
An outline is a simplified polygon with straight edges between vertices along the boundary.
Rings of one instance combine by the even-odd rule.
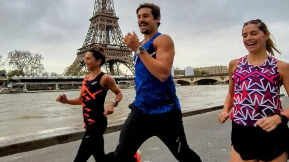
[[228, 73], [224, 73], [204, 74], [198, 76], [174, 76], [173, 79], [181, 85], [227, 84], [229, 82], [229, 75]]

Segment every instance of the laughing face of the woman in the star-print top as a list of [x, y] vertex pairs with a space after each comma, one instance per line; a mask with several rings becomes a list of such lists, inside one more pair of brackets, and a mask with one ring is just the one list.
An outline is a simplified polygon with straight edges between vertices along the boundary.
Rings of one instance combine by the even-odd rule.
[[259, 29], [259, 24], [248, 24], [243, 27], [243, 43], [249, 53], [257, 53], [266, 50], [266, 41], [269, 39], [269, 32], [264, 33]]

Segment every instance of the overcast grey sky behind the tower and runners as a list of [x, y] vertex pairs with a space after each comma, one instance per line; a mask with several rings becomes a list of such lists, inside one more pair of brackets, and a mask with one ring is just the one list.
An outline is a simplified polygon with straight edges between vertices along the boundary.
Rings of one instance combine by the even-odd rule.
[[[136, 31], [135, 10], [143, 0], [114, 0], [123, 35]], [[149, 1], [151, 2], [151, 1]], [[153, 0], [161, 8], [159, 31], [175, 43], [173, 66], [228, 65], [247, 54], [242, 44], [244, 22], [261, 19], [289, 62], [288, 0]], [[30, 50], [44, 56], [49, 72], [62, 73], [76, 58], [90, 25], [94, 0], [1, 0], [0, 54]], [[0, 69], [11, 69], [6, 65]]]

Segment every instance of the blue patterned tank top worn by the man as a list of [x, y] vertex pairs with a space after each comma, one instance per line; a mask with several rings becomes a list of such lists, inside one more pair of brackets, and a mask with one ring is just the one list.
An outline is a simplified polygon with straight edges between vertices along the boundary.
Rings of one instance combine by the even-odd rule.
[[[157, 33], [143, 45], [154, 59], [156, 51], [153, 40], [159, 35], [161, 33]], [[142, 110], [144, 114], [160, 114], [181, 108], [172, 75], [165, 82], [161, 82], [148, 71], [136, 54], [134, 54], [134, 64], [136, 71], [134, 105], [136, 108]]]

